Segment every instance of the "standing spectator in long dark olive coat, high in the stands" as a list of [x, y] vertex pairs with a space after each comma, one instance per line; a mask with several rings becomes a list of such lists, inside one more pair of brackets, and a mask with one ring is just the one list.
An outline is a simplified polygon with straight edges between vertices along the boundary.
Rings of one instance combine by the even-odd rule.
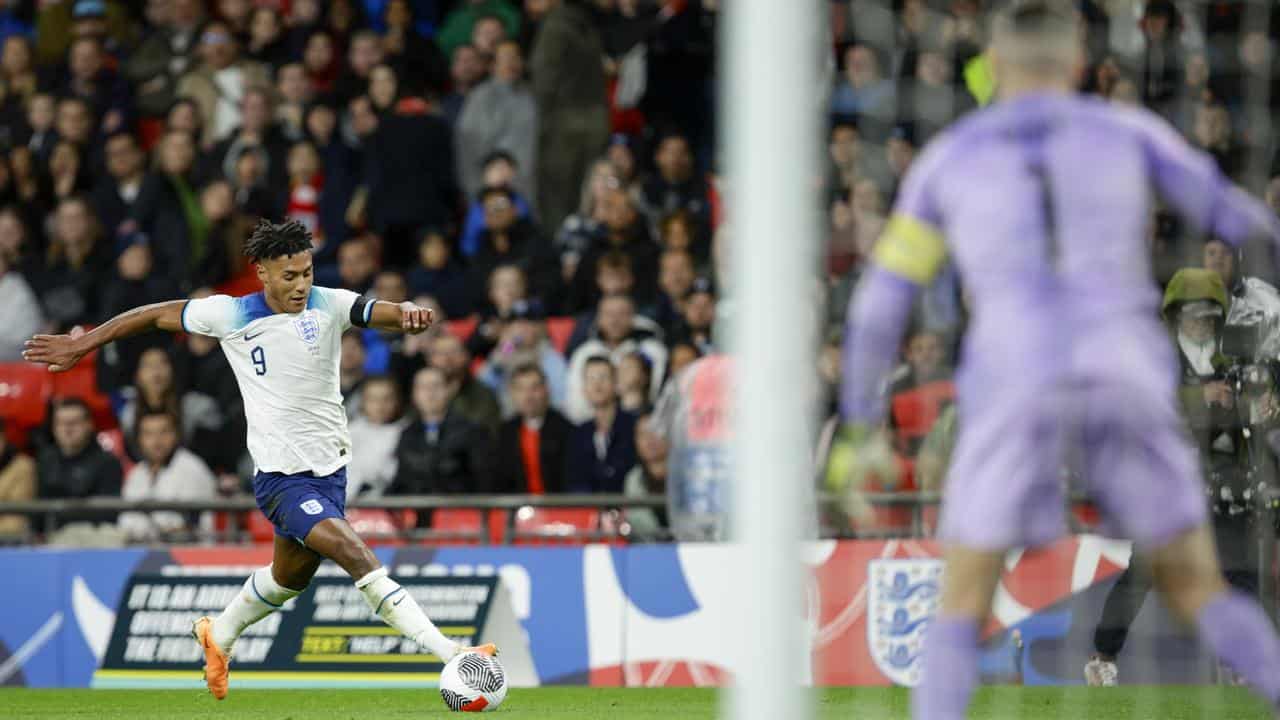
[[586, 0], [550, 0], [529, 67], [538, 99], [538, 217], [558, 228], [609, 138], [604, 47]]

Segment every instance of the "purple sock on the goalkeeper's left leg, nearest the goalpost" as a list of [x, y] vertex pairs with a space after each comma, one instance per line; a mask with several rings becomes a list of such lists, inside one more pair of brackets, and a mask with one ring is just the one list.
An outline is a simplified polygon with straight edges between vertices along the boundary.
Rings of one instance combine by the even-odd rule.
[[964, 720], [978, 685], [978, 621], [938, 616], [924, 634], [924, 676], [911, 694], [915, 720]]

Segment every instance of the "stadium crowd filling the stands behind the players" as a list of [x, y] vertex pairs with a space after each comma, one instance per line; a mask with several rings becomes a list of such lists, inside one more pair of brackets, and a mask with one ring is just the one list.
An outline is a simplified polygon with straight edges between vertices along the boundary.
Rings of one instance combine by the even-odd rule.
[[[351, 497], [662, 493], [671, 438], [654, 404], [717, 352], [731, 236], [714, 69], [732, 1], [10, 1], [0, 363], [36, 332], [252, 291], [248, 229], [291, 218], [314, 234], [319, 284], [451, 320], [343, 337]], [[833, 416], [845, 307], [901, 178], [989, 100], [991, 79], [989, 3], [828, 5], [829, 232], [814, 269], [827, 332], [818, 368], [796, 373], [817, 373]], [[1162, 114], [1280, 206], [1274, 140], [1251, 123], [1280, 106], [1280, 26], [1253, 22], [1245, 0], [1078, 5], [1084, 91]], [[1202, 263], [1202, 238], [1164, 215], [1152, 228], [1162, 283]], [[960, 296], [943, 277], [920, 305], [888, 389], [902, 473], [873, 489], [941, 483]], [[1280, 300], [1260, 302], [1280, 323]], [[110, 421], [77, 398], [52, 400], [29, 436], [8, 421], [0, 500], [247, 492], [242, 401], [216, 341], [131, 338], [97, 354], [95, 375]], [[95, 441], [105, 425], [122, 447]], [[650, 515], [634, 520], [663, 521]], [[195, 529], [178, 514], [118, 521], [134, 541]], [[0, 516], [0, 533], [28, 529]]]

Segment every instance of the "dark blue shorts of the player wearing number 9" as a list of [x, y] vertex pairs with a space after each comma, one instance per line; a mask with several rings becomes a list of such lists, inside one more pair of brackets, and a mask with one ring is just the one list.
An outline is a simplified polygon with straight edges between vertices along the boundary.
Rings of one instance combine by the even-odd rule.
[[253, 475], [253, 497], [275, 525], [275, 534], [303, 542], [320, 520], [346, 516], [347, 469], [320, 478], [311, 473], [259, 473]]

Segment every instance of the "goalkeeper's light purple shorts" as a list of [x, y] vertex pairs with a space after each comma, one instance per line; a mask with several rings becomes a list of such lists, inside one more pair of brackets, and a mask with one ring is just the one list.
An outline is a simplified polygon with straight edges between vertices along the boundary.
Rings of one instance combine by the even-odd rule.
[[[960, 434], [938, 537], [977, 550], [1043, 546], [1066, 530], [1064, 468], [1102, 509], [1105, 533], [1160, 547], [1207, 521], [1203, 479], [1171, 388], [1093, 384], [957, 406]], [[1011, 397], [1010, 397], [1011, 396]]]

